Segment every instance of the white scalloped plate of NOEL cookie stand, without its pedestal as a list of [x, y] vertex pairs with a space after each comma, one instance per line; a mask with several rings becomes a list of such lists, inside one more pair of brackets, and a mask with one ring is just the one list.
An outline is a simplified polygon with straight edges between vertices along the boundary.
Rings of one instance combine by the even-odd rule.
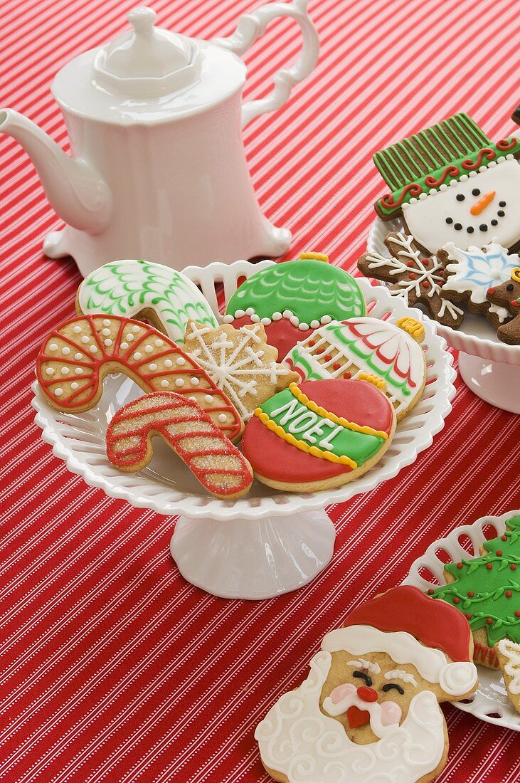
[[[188, 267], [184, 272], [202, 288], [213, 312], [221, 319], [215, 291], [217, 283], [224, 283], [227, 300], [236, 290], [240, 278], [271, 263], [214, 263], [204, 269]], [[393, 321], [402, 316], [421, 320], [425, 327], [422, 346], [428, 370], [421, 401], [398, 424], [393, 442], [378, 465], [355, 482], [332, 491], [307, 494], [275, 492], [254, 482], [245, 497], [217, 500], [204, 493], [188, 468], [180, 460], [172, 460], [170, 449], [159, 441], [154, 445], [154, 457], [149, 467], [136, 474], [120, 473], [106, 459], [106, 428], [120, 406], [142, 395], [142, 391], [123, 376], [107, 377], [99, 406], [77, 415], [53, 410], [38, 384], [34, 383], [33, 406], [37, 411], [36, 423], [42, 430], [41, 437], [52, 445], [54, 455], [65, 460], [68, 469], [83, 476], [87, 484], [100, 487], [111, 497], [123, 498], [134, 506], [150, 508], [159, 514], [221, 520], [288, 516], [299, 511], [321, 509], [328, 503], [341, 503], [359, 493], [370, 492], [381, 482], [396, 476], [402, 467], [414, 462], [418, 453], [431, 445], [433, 436], [443, 428], [444, 419], [450, 413], [450, 400], [455, 394], [455, 373], [453, 357], [445, 351], [446, 342], [436, 334], [434, 323], [418, 309], [409, 308], [403, 301], [391, 297], [386, 288], [372, 287], [365, 280], [358, 282], [372, 316], [390, 314]]]

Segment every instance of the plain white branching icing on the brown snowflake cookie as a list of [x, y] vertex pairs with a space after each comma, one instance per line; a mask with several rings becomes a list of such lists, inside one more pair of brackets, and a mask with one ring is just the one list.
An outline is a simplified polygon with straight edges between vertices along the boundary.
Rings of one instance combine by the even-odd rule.
[[[393, 296], [400, 296], [405, 301], [408, 300], [408, 294], [411, 290], [414, 291], [414, 294], [418, 298], [425, 295], [429, 298], [432, 298], [435, 294], [441, 295], [442, 291], [439, 283], [444, 283], [444, 277], [439, 275], [439, 270], [443, 269], [443, 265], [439, 263], [436, 255], [432, 255], [430, 257], [432, 265], [426, 268], [420, 252], [413, 247], [413, 241], [413, 236], [405, 236], [402, 233], [397, 233], [392, 237], [393, 244], [402, 248], [398, 251], [397, 256], [386, 258], [378, 253], [368, 254], [366, 257], [369, 262], [368, 268], [378, 269], [380, 266], [390, 267], [390, 275], [399, 275], [411, 271], [415, 272], [416, 276], [414, 280], [399, 280], [397, 283], [399, 288], [390, 290], [390, 294]], [[409, 262], [412, 262], [413, 267], [409, 265]], [[428, 290], [426, 290], [425, 287], [421, 287], [421, 283], [425, 280], [429, 283]], [[441, 297], [439, 318], [442, 318], [446, 311], [455, 320], [464, 313], [463, 310], [454, 305], [454, 302]]]

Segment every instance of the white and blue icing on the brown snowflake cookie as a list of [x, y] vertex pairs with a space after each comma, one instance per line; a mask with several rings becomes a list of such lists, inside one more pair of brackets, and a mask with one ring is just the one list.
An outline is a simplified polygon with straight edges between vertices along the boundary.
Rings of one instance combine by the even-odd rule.
[[518, 255], [508, 255], [505, 247], [495, 239], [482, 249], [468, 247], [464, 251], [456, 247], [454, 242], [448, 242], [443, 250], [448, 254], [448, 259], [454, 262], [446, 264], [450, 277], [444, 288], [460, 294], [468, 292], [470, 301], [475, 305], [486, 302], [488, 288], [506, 283], [513, 269], [520, 266]]

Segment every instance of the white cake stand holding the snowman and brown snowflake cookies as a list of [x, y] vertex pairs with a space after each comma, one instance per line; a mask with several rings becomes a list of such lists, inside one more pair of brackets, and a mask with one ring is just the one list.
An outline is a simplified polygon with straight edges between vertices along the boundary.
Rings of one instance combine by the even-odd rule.
[[[390, 231], [402, 231], [403, 223], [375, 218], [368, 235], [369, 253], [389, 255], [384, 239]], [[506, 345], [489, 321], [466, 312], [459, 329], [437, 324], [448, 345], [459, 351], [459, 371], [464, 383], [491, 405], [520, 413], [520, 345]]]

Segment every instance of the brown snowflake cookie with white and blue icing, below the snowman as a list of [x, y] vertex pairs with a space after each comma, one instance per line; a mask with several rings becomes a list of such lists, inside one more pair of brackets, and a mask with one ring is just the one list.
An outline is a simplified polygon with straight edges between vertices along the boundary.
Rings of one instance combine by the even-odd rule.
[[520, 266], [518, 254], [507, 254], [497, 242], [466, 251], [449, 242], [437, 257], [447, 272], [443, 286], [446, 297], [464, 302], [472, 312], [484, 313], [495, 328], [511, 318], [506, 308], [491, 305], [486, 294], [490, 287], [510, 280], [513, 269]]

